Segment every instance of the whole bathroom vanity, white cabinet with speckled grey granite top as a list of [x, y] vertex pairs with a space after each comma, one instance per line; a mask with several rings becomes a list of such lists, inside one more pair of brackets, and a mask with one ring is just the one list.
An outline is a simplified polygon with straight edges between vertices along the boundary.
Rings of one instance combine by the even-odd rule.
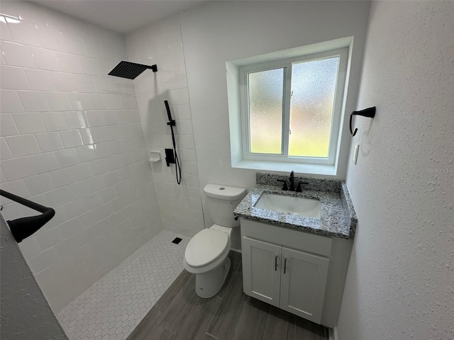
[[[304, 179], [301, 193], [282, 191], [275, 183], [285, 178], [257, 174], [234, 212], [241, 218], [244, 293], [335, 327], [357, 222], [348, 189], [341, 181]], [[279, 205], [279, 197], [277, 210], [260, 203], [271, 194], [319, 200], [319, 215], [294, 210], [299, 203]]]

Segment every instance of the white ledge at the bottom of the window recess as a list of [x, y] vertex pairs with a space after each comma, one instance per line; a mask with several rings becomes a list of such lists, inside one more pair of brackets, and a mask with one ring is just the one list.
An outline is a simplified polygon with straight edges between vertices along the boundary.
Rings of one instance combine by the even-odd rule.
[[329, 177], [337, 176], [337, 169], [336, 166], [334, 165], [241, 160], [236, 164], [232, 164], [232, 167], [239, 169], [253, 169], [266, 171], [285, 171], [285, 172], [295, 171], [299, 174], [311, 174]]

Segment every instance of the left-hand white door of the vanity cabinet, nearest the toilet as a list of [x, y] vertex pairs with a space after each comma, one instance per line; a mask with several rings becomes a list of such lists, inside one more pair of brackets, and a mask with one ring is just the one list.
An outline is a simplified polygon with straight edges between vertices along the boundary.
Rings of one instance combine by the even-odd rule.
[[281, 246], [243, 236], [243, 290], [279, 307]]

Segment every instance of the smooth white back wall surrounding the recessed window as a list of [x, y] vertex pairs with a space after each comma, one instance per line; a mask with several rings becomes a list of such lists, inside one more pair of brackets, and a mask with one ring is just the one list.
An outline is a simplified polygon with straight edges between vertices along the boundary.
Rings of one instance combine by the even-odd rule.
[[[346, 104], [347, 110], [353, 109], [368, 10], [365, 1], [213, 1], [182, 13], [201, 188], [206, 183], [255, 185], [257, 171], [231, 167], [226, 61], [354, 35]], [[341, 176], [345, 168], [344, 164]], [[208, 213], [205, 225], [211, 225]], [[238, 234], [239, 230], [233, 239]]]

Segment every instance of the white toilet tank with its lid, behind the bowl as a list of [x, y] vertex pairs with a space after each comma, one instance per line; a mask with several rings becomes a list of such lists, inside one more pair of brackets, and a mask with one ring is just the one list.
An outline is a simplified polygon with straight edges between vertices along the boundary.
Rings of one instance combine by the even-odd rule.
[[233, 210], [246, 195], [246, 189], [218, 184], [206, 184], [204, 188], [206, 208], [214, 224], [223, 227], [238, 227], [240, 220], [235, 220]]

